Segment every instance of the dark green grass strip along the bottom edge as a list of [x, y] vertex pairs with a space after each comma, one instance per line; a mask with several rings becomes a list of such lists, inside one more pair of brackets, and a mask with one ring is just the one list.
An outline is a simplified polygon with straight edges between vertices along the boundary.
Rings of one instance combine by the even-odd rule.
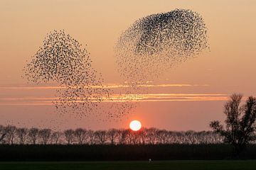
[[3, 170], [230, 170], [255, 169], [256, 160], [246, 161], [160, 161], [160, 162], [0, 162]]

